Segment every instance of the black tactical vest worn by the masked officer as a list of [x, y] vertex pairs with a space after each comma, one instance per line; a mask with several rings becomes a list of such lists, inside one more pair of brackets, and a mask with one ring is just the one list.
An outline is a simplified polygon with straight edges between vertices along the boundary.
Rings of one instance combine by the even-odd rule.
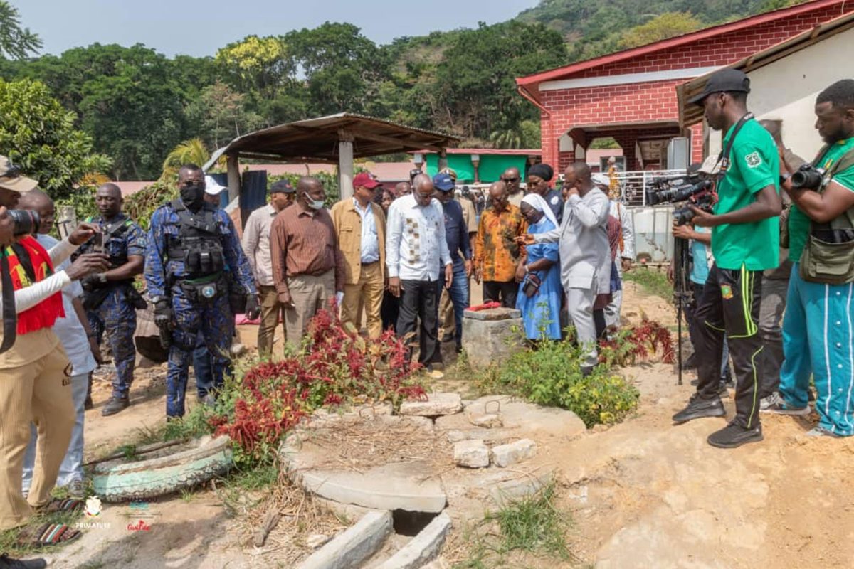
[[213, 276], [225, 270], [222, 235], [217, 230], [216, 208], [204, 204], [190, 212], [181, 200], [171, 204], [178, 215], [178, 235], [167, 237], [167, 258], [184, 264], [184, 278]]

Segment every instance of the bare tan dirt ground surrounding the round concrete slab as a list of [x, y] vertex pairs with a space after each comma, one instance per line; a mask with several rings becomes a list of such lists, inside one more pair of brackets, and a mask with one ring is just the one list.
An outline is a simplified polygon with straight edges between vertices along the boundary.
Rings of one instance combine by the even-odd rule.
[[[668, 303], [635, 283], [625, 283], [623, 302], [629, 322], [646, 314], [675, 324]], [[253, 327], [240, 330], [246, 345], [254, 345], [254, 334]], [[468, 392], [448, 371], [442, 387]], [[674, 367], [662, 363], [640, 363], [623, 373], [642, 394], [637, 415], [553, 450], [561, 472], [560, 506], [574, 521], [570, 549], [582, 563], [601, 569], [851, 566], [854, 440], [807, 438], [815, 417], [798, 421], [763, 415], [762, 443], [715, 449], [705, 438], [725, 425], [723, 419], [679, 427], [670, 421], [692, 392], [693, 374], [677, 386]], [[108, 377], [99, 376], [96, 409], [86, 413], [87, 458], [163, 421], [164, 375], [161, 368], [140, 370], [131, 408], [112, 417], [100, 413], [109, 387]], [[192, 381], [188, 393], [194, 393]], [[732, 401], [725, 404], [732, 415]], [[128, 529], [139, 519], [148, 531]], [[285, 537], [274, 531], [265, 548], [245, 545], [243, 528], [211, 491], [151, 502], [145, 511], [105, 504], [99, 518], [83, 521], [108, 527], [85, 530], [79, 541], [50, 555], [51, 566], [290, 566], [282, 561]], [[530, 560], [519, 566], [560, 564]]]

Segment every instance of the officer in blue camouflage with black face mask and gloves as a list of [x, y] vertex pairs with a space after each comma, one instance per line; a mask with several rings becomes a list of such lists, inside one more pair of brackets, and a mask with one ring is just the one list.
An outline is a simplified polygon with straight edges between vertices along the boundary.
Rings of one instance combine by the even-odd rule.
[[205, 202], [205, 179], [197, 165], [178, 171], [180, 199], [151, 216], [145, 282], [155, 304], [161, 340], [169, 345], [167, 419], [184, 415], [184, 393], [196, 334], [202, 331], [220, 386], [229, 365], [234, 313], [260, 313], [249, 261], [231, 218]]

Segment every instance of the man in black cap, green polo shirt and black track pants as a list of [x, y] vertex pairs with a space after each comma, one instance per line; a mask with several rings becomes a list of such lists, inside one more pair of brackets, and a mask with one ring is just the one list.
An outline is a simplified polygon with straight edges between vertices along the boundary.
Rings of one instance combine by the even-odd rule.
[[699, 383], [685, 409], [673, 415], [683, 423], [726, 415], [718, 395], [723, 338], [728, 336], [737, 384], [735, 418], [707, 439], [712, 446], [734, 448], [762, 440], [758, 388], [762, 380], [762, 339], [757, 334], [762, 271], [779, 264], [779, 159], [774, 139], [747, 111], [750, 79], [735, 69], [713, 73], [690, 102], [704, 107], [705, 119], [723, 131], [718, 158], [718, 201], [714, 213], [691, 206], [693, 224], [711, 227], [715, 263], [696, 317]]

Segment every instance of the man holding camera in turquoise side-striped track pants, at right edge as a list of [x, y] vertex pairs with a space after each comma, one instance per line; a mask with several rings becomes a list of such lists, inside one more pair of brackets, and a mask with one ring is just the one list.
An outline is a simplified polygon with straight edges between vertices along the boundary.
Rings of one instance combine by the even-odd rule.
[[816, 98], [816, 129], [824, 139], [812, 165], [793, 170], [781, 160], [789, 214], [792, 267], [783, 317], [782, 401], [769, 410], [808, 415], [810, 374], [816, 384], [818, 426], [811, 436], [854, 434], [854, 79], [830, 85]]

